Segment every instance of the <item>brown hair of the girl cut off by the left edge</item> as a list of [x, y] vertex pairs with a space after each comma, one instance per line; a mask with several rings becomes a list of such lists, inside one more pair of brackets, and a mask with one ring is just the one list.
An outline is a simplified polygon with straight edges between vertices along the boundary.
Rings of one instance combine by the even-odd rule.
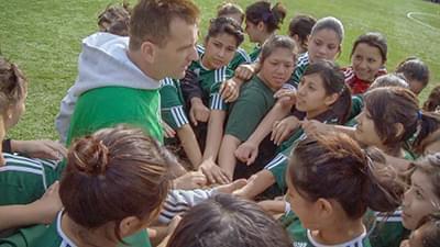
[[28, 79], [19, 67], [0, 56], [0, 111], [1, 114], [25, 96]]

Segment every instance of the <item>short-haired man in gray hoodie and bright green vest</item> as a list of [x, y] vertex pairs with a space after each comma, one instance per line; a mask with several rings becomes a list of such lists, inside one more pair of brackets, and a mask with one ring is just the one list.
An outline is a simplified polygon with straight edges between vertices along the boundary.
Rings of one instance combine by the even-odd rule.
[[141, 0], [133, 8], [129, 38], [109, 33], [86, 37], [77, 81], [56, 120], [62, 139], [69, 144], [127, 123], [162, 141], [160, 80], [183, 78], [197, 59], [198, 19], [191, 0]]

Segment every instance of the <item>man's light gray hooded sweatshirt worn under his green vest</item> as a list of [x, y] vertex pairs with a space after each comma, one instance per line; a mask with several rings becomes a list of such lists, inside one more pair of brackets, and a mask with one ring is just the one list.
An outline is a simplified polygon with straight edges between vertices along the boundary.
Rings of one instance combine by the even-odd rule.
[[[78, 97], [103, 87], [157, 89], [161, 83], [141, 71], [127, 55], [129, 37], [110, 33], [95, 33], [82, 40], [78, 58], [78, 77], [59, 105], [55, 126], [63, 143], [66, 142], [70, 117]], [[114, 99], [117, 100], [117, 99]]]

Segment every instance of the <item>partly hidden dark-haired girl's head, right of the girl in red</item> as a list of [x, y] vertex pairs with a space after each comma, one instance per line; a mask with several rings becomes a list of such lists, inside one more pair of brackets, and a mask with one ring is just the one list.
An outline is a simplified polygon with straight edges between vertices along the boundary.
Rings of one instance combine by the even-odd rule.
[[396, 72], [405, 77], [410, 90], [417, 96], [428, 86], [429, 68], [417, 57], [409, 57], [402, 61], [397, 66]]

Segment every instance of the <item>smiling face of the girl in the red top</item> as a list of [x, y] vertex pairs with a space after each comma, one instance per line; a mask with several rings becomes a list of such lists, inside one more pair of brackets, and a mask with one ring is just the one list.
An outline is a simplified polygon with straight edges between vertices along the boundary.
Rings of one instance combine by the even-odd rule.
[[365, 43], [358, 44], [351, 63], [356, 77], [365, 81], [374, 81], [377, 71], [384, 66], [381, 50]]

